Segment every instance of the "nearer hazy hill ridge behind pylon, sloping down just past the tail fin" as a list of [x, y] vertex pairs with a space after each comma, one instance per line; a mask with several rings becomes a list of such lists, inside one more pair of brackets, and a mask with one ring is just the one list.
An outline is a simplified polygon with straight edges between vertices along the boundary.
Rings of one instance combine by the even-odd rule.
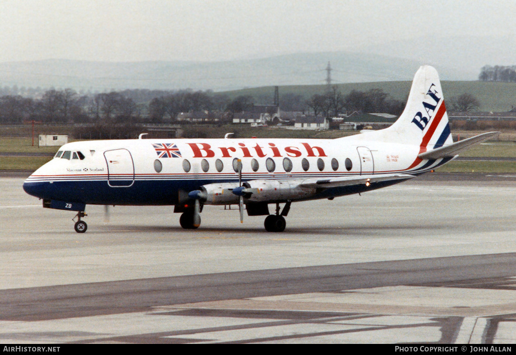
[[[328, 61], [333, 83], [411, 80], [426, 64], [380, 54], [301, 53], [223, 62], [93, 62], [49, 59], [0, 63], [0, 86], [73, 88], [84, 91], [161, 89], [225, 91], [245, 87], [323, 84]], [[446, 80], [471, 73], [437, 68]]]

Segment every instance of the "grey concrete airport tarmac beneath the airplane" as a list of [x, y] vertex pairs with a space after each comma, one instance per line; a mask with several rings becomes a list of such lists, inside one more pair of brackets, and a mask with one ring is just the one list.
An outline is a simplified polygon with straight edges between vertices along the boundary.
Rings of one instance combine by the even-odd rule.
[[294, 203], [43, 209], [0, 177], [2, 343], [513, 343], [516, 176], [432, 174]]

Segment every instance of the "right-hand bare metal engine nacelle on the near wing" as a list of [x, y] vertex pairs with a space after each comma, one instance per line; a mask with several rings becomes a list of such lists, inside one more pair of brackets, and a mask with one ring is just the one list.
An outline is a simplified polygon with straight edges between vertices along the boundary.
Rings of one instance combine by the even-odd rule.
[[304, 199], [315, 194], [314, 188], [300, 187], [302, 180], [251, 180], [243, 185], [247, 201], [294, 201]]

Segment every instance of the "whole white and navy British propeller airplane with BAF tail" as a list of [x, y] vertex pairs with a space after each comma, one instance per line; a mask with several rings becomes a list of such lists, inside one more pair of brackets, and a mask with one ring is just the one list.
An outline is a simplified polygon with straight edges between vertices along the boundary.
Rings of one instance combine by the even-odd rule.
[[[24, 182], [43, 207], [77, 212], [93, 205], [174, 206], [184, 229], [196, 229], [205, 205], [244, 206], [283, 232], [292, 202], [329, 199], [391, 186], [434, 170], [457, 153], [495, 137], [453, 142], [436, 69], [415, 74], [398, 120], [378, 131], [336, 139], [139, 139], [78, 141]], [[269, 212], [269, 204], [275, 212]], [[280, 204], [284, 204], [283, 208]], [[75, 218], [74, 218], [75, 220]]]

